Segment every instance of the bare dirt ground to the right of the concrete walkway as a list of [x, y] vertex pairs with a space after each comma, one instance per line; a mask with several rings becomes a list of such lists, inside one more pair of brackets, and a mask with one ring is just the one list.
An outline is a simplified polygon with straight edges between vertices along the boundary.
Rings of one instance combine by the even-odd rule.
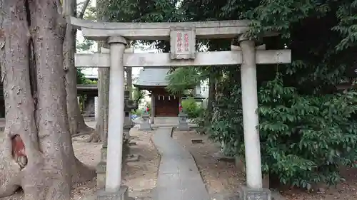
[[[218, 145], [210, 142], [205, 135], [195, 132], [175, 131], [174, 138], [188, 149], [196, 159], [198, 169], [211, 196], [232, 196], [245, 184], [243, 172], [239, 172], [233, 162], [218, 161], [213, 155], [219, 151]], [[201, 144], [192, 144], [191, 139], [202, 139]], [[357, 169], [341, 169], [345, 182], [336, 187], [316, 187], [308, 193], [298, 189], [281, 191], [287, 200], [357, 200]], [[280, 200], [280, 199], [279, 199]]]

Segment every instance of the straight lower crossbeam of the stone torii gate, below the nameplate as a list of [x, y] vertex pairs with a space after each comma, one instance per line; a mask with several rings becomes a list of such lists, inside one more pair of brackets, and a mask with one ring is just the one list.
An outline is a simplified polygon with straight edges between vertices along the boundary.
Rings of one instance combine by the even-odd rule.
[[[194, 60], [171, 60], [169, 53], [124, 53], [125, 67], [239, 65], [241, 51], [198, 52]], [[291, 63], [291, 50], [257, 50], [257, 64]], [[108, 68], [109, 53], [76, 53], [76, 67]]]

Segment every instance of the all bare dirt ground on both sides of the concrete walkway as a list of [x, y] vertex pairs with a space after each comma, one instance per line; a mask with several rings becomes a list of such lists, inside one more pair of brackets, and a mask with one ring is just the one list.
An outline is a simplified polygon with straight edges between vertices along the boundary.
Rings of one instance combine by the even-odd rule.
[[[129, 196], [139, 200], [151, 199], [151, 190], [156, 186], [156, 176], [159, 167], [159, 154], [156, 151], [151, 136], [154, 132], [140, 132], [137, 128], [131, 130], [131, 142], [136, 145], [130, 147], [131, 154], [139, 155], [138, 162], [129, 162], [124, 168], [123, 184], [129, 186]], [[88, 136], [74, 138], [74, 151], [85, 164], [96, 167], [100, 161], [101, 144], [84, 142]], [[198, 169], [211, 196], [233, 196], [245, 184], [245, 176], [231, 161], [215, 159], [218, 145], [210, 142], [205, 135], [195, 132], [174, 132], [174, 138], [196, 159]], [[203, 143], [192, 144], [192, 139], [201, 139]], [[318, 191], [307, 193], [297, 189], [281, 191], [288, 200], [357, 200], [357, 169], [342, 169], [345, 182], [336, 187], [321, 187]], [[96, 178], [74, 186], [71, 200], [95, 200]], [[0, 200], [23, 199], [21, 192]], [[223, 197], [225, 199], [225, 197]], [[221, 198], [216, 198], [221, 199]], [[279, 199], [280, 200], [280, 199]]]

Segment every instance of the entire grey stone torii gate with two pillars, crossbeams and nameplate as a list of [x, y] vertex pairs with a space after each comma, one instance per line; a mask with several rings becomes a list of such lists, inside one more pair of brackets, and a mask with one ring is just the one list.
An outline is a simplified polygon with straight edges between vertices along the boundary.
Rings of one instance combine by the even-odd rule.
[[[246, 184], [243, 199], [271, 199], [262, 189], [261, 150], [259, 141], [257, 64], [291, 63], [291, 51], [265, 50], [244, 36], [249, 21], [205, 21], [182, 23], [109, 23], [71, 18], [85, 38], [107, 41], [109, 53], [77, 53], [80, 67], [110, 68], [109, 125], [106, 185], [98, 199], [124, 199], [127, 187], [121, 185], [121, 157], [124, 123], [124, 67], [241, 65], [243, 128], [246, 150]], [[275, 34], [276, 35], [276, 34]], [[272, 36], [272, 34], [266, 36]], [[196, 38], [239, 38], [240, 46], [232, 51], [196, 52]], [[125, 53], [129, 40], [169, 40], [171, 53]]]

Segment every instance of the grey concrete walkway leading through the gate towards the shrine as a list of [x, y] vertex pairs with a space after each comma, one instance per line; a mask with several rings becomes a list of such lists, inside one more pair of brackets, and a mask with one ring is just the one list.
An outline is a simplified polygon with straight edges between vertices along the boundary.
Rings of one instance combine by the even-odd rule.
[[155, 200], [208, 200], [208, 192], [190, 152], [172, 137], [173, 127], [159, 127], [153, 141], [161, 154]]

